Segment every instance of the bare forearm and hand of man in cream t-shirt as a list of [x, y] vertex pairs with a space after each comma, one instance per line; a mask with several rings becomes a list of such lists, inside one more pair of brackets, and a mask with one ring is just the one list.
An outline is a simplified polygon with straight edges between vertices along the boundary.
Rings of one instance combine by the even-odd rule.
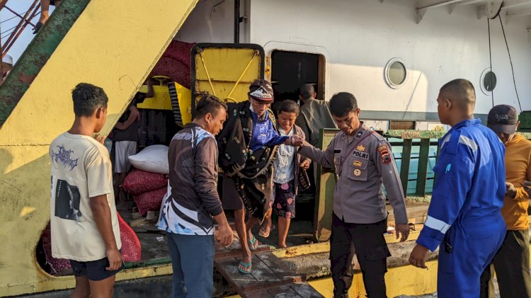
[[94, 222], [96, 222], [96, 227], [100, 231], [101, 238], [103, 238], [103, 242], [105, 243], [105, 249], [107, 250], [109, 267], [105, 269], [118, 270], [122, 265], [122, 254], [118, 251], [118, 246], [116, 246], [107, 195], [91, 197], [90, 205]]

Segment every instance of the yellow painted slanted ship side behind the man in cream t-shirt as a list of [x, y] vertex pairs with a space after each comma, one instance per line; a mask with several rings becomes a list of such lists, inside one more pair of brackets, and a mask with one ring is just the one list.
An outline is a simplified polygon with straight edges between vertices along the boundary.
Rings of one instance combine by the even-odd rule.
[[[108, 133], [181, 27], [197, 0], [92, 0], [0, 129], [0, 296], [73, 287], [35, 263], [50, 217], [52, 139], [74, 120], [71, 91], [79, 82], [105, 89]], [[139, 268], [118, 279], [169, 274]]]

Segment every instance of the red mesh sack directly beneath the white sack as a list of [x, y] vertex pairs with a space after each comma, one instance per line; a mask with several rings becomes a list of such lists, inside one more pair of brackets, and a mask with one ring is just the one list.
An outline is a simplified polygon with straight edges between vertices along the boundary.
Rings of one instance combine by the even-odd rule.
[[159, 188], [166, 189], [167, 185], [168, 179], [163, 174], [150, 173], [133, 168], [125, 177], [122, 188], [131, 195], [140, 195]]

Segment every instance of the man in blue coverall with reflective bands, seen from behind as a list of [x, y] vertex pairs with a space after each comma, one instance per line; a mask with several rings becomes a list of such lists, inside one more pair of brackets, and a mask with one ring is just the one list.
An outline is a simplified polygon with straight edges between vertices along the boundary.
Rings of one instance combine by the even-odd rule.
[[409, 262], [426, 268], [428, 250], [440, 245], [438, 297], [479, 297], [479, 277], [506, 234], [500, 212], [505, 147], [474, 119], [476, 93], [469, 81], [442, 86], [437, 103], [440, 122], [452, 129], [439, 141], [428, 217]]

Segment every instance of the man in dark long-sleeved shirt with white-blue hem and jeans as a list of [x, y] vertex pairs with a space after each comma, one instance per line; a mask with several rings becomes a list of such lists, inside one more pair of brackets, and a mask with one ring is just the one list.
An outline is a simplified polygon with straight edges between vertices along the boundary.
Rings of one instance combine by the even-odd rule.
[[[171, 297], [212, 297], [215, 240], [232, 243], [232, 229], [217, 193], [217, 142], [227, 105], [214, 96], [198, 103], [193, 122], [170, 143], [170, 194], [159, 229], [167, 232], [173, 267]], [[219, 225], [215, 234], [214, 222]]]

